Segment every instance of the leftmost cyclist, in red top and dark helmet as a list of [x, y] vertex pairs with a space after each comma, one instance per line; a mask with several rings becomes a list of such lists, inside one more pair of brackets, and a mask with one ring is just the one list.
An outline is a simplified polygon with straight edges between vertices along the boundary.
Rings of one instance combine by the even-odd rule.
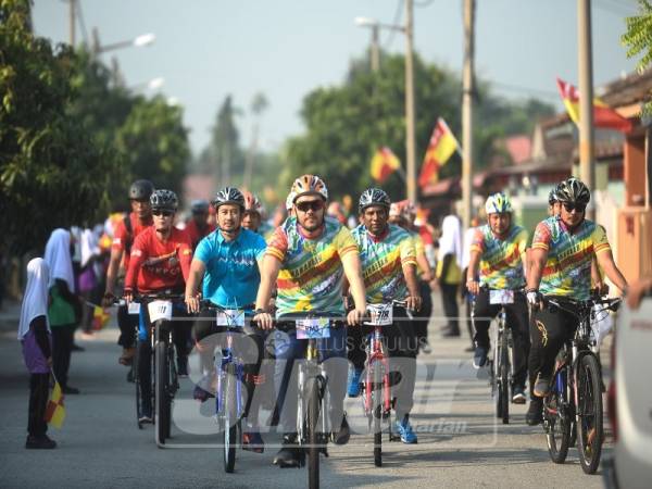
[[[145, 229], [152, 225], [152, 208], [150, 196], [154, 186], [149, 180], [136, 180], [129, 187], [129, 201], [131, 212], [117, 223], [111, 244], [111, 259], [106, 269], [106, 286], [104, 289], [103, 304], [109, 306], [115, 300], [115, 285], [118, 271], [124, 260], [124, 271], [129, 268], [129, 256], [134, 239]], [[136, 353], [136, 328], [138, 327], [138, 315], [129, 314], [126, 305], [117, 309], [117, 326], [120, 338], [117, 344], [123, 347], [123, 353], [118, 359], [122, 365], [130, 365]]]

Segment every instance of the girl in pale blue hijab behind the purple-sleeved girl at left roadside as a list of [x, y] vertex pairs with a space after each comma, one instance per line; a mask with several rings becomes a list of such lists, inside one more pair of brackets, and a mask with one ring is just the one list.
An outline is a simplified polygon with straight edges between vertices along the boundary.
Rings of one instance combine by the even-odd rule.
[[79, 390], [68, 386], [67, 373], [80, 303], [75, 296], [71, 234], [67, 230], [60, 228], [52, 231], [46, 244], [45, 260], [50, 268], [48, 318], [52, 328], [52, 368], [63, 393], [76, 394]]

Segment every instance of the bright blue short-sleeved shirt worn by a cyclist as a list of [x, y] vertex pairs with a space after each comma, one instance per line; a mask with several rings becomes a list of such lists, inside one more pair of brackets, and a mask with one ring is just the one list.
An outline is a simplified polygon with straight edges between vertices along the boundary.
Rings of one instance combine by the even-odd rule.
[[264, 238], [244, 228], [233, 241], [224, 239], [220, 229], [203, 238], [193, 260], [206, 267], [204, 299], [223, 308], [241, 308], [255, 302], [261, 284], [259, 260], [265, 249]]

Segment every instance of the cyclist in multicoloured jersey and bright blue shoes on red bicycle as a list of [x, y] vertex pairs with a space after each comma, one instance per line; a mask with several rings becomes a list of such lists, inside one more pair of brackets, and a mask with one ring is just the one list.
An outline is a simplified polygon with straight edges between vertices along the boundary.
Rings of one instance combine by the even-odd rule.
[[[360, 196], [359, 211], [362, 224], [352, 230], [358, 243], [362, 276], [368, 303], [388, 303], [405, 300], [406, 309], [418, 311], [422, 298], [416, 276], [416, 253], [410, 234], [399, 226], [388, 224], [391, 201], [378, 188], [369, 188]], [[409, 359], [400, 365], [401, 380], [396, 387], [397, 430], [403, 443], [416, 443], [417, 437], [410, 425], [410, 411], [414, 404], [417, 344], [412, 322], [406, 319], [405, 310], [394, 310], [400, 319], [385, 328], [390, 358]], [[402, 318], [402, 319], [401, 319]], [[365, 350], [363, 334], [367, 328], [349, 329], [350, 371], [349, 396], [360, 393], [360, 377], [364, 369]], [[392, 375], [393, 377], [393, 375]]]

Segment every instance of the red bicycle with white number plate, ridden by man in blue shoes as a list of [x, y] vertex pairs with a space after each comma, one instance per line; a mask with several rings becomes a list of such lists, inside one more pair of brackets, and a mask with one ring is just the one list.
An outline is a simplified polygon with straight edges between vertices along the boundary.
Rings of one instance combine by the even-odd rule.
[[373, 333], [366, 341], [365, 377], [363, 380], [363, 409], [367, 416], [369, 429], [374, 429], [374, 465], [383, 466], [383, 421], [388, 425], [389, 441], [400, 440], [391, 432], [391, 409], [393, 400], [389, 381], [389, 354], [383, 335], [384, 327], [393, 325], [393, 306], [405, 306], [405, 301], [392, 301], [383, 304], [368, 304], [369, 321], [364, 325], [372, 326]]

